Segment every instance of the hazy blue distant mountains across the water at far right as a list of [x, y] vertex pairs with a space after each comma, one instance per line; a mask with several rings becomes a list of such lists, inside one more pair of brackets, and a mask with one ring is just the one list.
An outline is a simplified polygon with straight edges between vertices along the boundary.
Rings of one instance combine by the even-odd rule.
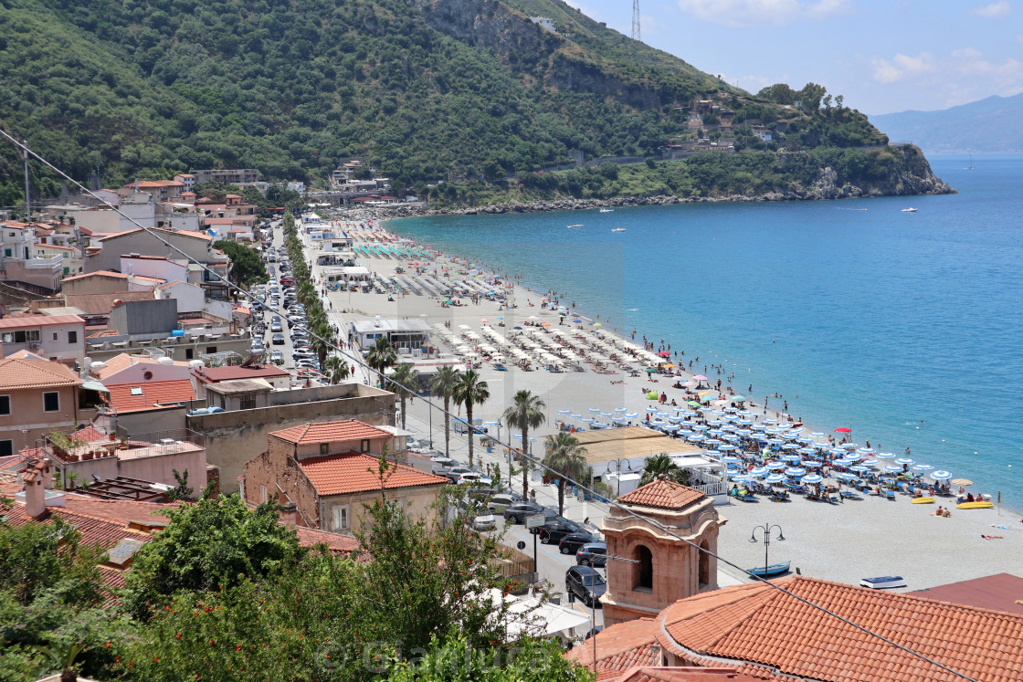
[[871, 123], [893, 142], [913, 142], [925, 153], [1023, 152], [1023, 93], [940, 111], [873, 116]]

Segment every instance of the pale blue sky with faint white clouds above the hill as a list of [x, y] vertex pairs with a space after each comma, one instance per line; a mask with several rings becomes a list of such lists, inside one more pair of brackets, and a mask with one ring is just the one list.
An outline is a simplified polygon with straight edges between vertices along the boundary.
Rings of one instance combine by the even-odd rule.
[[[625, 35], [630, 0], [568, 0]], [[1023, 0], [639, 0], [642, 40], [756, 92], [808, 81], [868, 115], [1023, 92]]]

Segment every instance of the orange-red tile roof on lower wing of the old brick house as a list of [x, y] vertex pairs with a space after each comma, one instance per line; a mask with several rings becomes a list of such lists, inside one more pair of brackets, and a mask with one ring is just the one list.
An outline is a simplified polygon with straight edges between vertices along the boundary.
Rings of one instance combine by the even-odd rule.
[[[380, 459], [361, 452], [346, 452], [340, 455], [324, 455], [323, 457], [309, 457], [299, 460], [299, 466], [302, 467], [303, 472], [319, 495], [346, 495], [380, 490], [381, 482], [376, 473], [379, 465]], [[424, 473], [411, 466], [398, 464], [398, 470], [385, 482], [384, 488], [391, 490], [414, 486], [437, 486], [447, 483], [447, 479]]]

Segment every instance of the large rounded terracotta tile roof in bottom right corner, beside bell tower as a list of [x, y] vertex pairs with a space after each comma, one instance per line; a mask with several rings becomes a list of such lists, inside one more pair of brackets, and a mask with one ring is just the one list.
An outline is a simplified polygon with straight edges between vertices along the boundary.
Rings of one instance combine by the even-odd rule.
[[[974, 679], [1023, 679], [1021, 616], [814, 578], [776, 584]], [[831, 682], [962, 679], [762, 583], [681, 599], [658, 625], [659, 643], [697, 664], [729, 658]]]

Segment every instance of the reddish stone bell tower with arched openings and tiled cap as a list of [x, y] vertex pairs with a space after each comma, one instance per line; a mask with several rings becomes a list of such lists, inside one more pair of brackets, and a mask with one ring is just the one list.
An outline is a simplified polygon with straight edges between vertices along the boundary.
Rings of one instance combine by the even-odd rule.
[[[697, 547], [717, 553], [719, 529], [727, 519], [713, 500], [693, 488], [659, 479], [618, 498]], [[608, 591], [601, 597], [605, 627], [653, 618], [666, 606], [717, 589], [717, 559], [617, 507], [601, 526], [608, 554]]]

